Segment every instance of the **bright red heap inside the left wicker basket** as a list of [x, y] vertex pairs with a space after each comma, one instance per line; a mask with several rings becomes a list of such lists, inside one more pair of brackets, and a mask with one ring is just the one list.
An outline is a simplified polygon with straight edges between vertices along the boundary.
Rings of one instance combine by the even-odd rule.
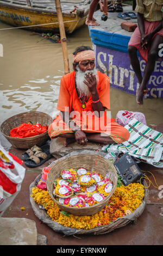
[[41, 124], [26, 124], [22, 123], [20, 126], [12, 129], [10, 131], [10, 137], [15, 138], [28, 138], [33, 137], [36, 135], [40, 135], [43, 132], [46, 132], [48, 129], [48, 126], [41, 125]]

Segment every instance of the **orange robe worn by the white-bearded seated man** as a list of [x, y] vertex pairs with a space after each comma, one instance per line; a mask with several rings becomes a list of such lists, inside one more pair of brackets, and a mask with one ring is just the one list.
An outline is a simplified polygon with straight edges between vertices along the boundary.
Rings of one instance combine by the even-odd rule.
[[[99, 71], [97, 72], [99, 100], [105, 109], [109, 109], [109, 77]], [[103, 135], [109, 135], [118, 144], [126, 141], [129, 138], [128, 130], [115, 123], [115, 119], [108, 118], [106, 111], [101, 118], [93, 114], [91, 95], [85, 104], [86, 108], [82, 108], [82, 103], [76, 92], [75, 75], [76, 72], [72, 71], [61, 78], [57, 109], [64, 112], [68, 111], [71, 118], [84, 132], [101, 132]], [[48, 134], [53, 139], [63, 133], [73, 133], [73, 131], [64, 123], [61, 114], [59, 114], [49, 125]]]

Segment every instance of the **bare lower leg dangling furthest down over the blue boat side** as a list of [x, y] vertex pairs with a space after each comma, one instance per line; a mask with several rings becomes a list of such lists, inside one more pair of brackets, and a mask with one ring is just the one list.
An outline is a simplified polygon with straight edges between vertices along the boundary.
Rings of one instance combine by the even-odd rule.
[[146, 63], [145, 72], [143, 75], [142, 82], [140, 84], [140, 88], [137, 90], [136, 102], [139, 105], [143, 104], [143, 92], [146, 90], [147, 82], [149, 77], [152, 75], [155, 66], [155, 60], [158, 56], [159, 44], [163, 42], [163, 37], [161, 35], [156, 35], [153, 39], [151, 49], [148, 53], [148, 61]]

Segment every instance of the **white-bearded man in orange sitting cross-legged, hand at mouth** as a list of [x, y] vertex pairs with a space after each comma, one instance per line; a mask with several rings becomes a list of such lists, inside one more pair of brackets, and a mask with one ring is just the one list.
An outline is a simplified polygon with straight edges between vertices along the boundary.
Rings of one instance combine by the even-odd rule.
[[110, 108], [109, 77], [95, 68], [95, 52], [80, 46], [73, 53], [74, 71], [60, 81], [57, 109], [60, 114], [48, 127], [51, 139], [65, 138], [65, 147], [72, 142], [86, 145], [122, 143], [129, 132], [108, 117]]

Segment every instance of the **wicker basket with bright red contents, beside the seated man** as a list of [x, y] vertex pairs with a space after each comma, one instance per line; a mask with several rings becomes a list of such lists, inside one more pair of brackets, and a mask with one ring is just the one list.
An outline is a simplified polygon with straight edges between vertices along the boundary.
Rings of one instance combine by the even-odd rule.
[[5, 120], [1, 132], [14, 148], [29, 149], [46, 143], [52, 121], [52, 117], [43, 112], [24, 112]]

